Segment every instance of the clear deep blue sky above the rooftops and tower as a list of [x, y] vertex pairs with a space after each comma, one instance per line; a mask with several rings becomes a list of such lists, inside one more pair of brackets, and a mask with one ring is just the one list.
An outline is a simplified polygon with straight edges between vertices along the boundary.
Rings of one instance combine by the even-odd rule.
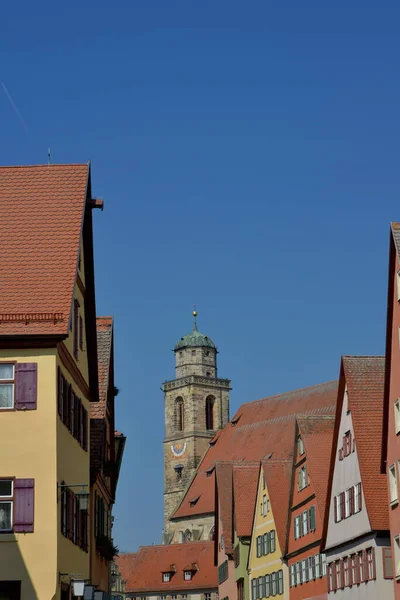
[[400, 219], [400, 6], [23, 0], [0, 19], [0, 163], [92, 161], [116, 331], [121, 550], [162, 532], [163, 396], [199, 328], [240, 403], [384, 350]]

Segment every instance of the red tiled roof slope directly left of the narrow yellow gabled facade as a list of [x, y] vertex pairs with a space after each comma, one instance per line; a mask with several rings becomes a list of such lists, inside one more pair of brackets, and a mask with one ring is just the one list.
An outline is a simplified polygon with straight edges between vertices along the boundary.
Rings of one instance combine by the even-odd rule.
[[259, 462], [233, 466], [234, 518], [238, 537], [251, 535], [259, 474]]

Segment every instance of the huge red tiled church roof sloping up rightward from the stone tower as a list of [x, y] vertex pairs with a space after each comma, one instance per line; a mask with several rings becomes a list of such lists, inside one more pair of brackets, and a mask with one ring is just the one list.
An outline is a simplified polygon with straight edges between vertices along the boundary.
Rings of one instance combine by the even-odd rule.
[[[337, 381], [242, 404], [230, 423], [210, 442], [174, 518], [215, 512], [216, 461], [261, 460], [293, 455], [296, 415], [329, 415], [335, 411]], [[191, 499], [198, 498], [196, 503]]]

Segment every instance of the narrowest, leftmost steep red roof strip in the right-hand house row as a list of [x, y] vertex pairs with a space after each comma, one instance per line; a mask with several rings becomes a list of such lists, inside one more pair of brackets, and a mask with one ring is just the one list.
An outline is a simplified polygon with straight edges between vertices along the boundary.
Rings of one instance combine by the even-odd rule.
[[219, 515], [226, 554], [233, 552], [233, 463], [217, 462], [215, 465]]

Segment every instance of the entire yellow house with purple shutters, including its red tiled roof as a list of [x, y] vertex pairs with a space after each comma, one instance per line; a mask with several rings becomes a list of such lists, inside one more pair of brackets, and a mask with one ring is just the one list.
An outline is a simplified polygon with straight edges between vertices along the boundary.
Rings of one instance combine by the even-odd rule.
[[90, 583], [98, 401], [89, 165], [0, 168], [0, 203], [0, 598], [70, 600]]

